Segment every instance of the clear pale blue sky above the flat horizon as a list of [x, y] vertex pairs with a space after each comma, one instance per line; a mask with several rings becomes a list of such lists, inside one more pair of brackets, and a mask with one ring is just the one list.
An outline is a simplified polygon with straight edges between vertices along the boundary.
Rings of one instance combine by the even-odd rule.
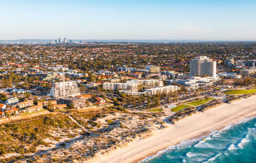
[[256, 40], [256, 1], [0, 0], [0, 40]]

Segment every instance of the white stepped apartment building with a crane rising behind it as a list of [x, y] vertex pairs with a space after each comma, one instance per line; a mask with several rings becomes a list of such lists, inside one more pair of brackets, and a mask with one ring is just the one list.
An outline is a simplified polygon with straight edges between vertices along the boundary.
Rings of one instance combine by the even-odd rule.
[[61, 81], [53, 83], [49, 96], [55, 98], [64, 98], [69, 96], [80, 95], [79, 88], [77, 87], [76, 81]]

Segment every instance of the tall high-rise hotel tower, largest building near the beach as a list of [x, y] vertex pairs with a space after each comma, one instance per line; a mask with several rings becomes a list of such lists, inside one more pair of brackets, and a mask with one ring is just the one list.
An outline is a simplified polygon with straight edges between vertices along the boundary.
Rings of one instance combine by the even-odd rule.
[[216, 78], [216, 61], [206, 56], [200, 56], [190, 61], [191, 76], [209, 76]]

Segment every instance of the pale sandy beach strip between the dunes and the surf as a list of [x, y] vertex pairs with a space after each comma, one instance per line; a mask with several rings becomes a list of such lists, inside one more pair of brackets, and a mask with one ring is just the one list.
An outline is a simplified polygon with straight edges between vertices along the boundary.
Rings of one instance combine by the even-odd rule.
[[181, 119], [175, 125], [168, 124], [166, 129], [155, 131], [150, 138], [135, 139], [127, 147], [116, 149], [113, 153], [97, 158], [93, 162], [138, 162], [183, 140], [201, 135], [207, 136], [212, 131], [220, 130], [230, 123], [254, 116], [256, 116], [256, 96], [242, 98], [232, 104], [223, 104], [204, 113]]

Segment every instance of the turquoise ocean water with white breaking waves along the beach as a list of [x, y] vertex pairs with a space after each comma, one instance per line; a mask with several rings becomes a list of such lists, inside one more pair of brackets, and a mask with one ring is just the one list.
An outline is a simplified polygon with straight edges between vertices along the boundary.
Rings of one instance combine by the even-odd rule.
[[256, 162], [256, 118], [247, 118], [213, 132], [171, 146], [142, 162]]

